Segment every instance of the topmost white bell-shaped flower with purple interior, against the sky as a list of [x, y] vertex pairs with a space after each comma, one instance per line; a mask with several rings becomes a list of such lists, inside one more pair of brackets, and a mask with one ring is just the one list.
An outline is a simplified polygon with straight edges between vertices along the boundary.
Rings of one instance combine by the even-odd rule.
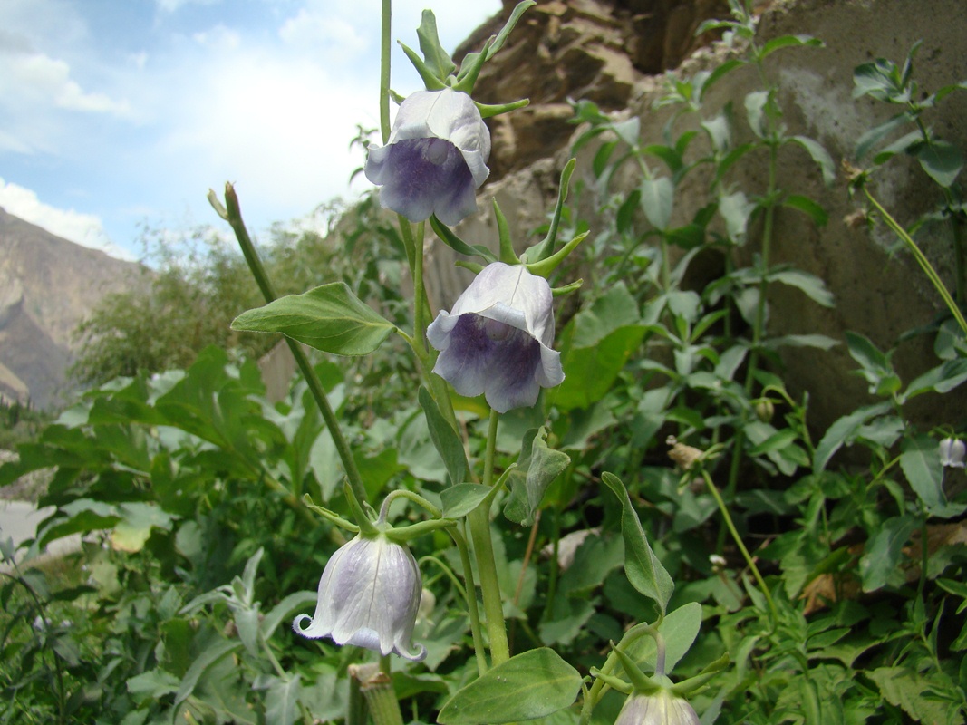
[[489, 157], [490, 131], [467, 94], [418, 91], [400, 104], [386, 146], [369, 148], [366, 178], [382, 186], [384, 209], [453, 225], [477, 211]]

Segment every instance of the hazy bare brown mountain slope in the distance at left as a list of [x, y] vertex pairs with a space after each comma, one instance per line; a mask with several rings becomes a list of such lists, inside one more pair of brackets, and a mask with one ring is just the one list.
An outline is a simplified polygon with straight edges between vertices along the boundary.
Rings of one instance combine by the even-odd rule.
[[55, 405], [68, 392], [77, 325], [144, 273], [0, 208], [0, 396]]

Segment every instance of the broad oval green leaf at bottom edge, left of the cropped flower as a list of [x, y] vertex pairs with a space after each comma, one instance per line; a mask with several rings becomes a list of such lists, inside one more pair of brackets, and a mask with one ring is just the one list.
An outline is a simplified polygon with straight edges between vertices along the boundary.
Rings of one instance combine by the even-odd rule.
[[459, 689], [440, 710], [440, 725], [497, 725], [535, 720], [570, 707], [581, 676], [548, 648], [511, 657]]

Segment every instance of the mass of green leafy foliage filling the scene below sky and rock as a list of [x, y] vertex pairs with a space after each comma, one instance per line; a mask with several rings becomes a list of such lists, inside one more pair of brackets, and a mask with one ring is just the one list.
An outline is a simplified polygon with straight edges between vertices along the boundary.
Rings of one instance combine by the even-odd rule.
[[[787, 133], [770, 65], [780, 50], [819, 52], [821, 43], [760, 43], [747, 6], [730, 8], [731, 19], [702, 30], [722, 31], [734, 55], [670, 78], [658, 102], [670, 114], [661, 138], [641, 138], [637, 119], [575, 104], [584, 124], [575, 151], [591, 157], [601, 208], [575, 217], [567, 165], [540, 241], [523, 258], [543, 265], [558, 291], [574, 293], [577, 268], [587, 277], [557, 345], [567, 377], [499, 426], [477, 401], [441, 393], [429, 373], [433, 353], [413, 321], [425, 310], [411, 310], [400, 292], [404, 264], [417, 278], [422, 240], [397, 231], [372, 198], [342, 217], [335, 242], [304, 236], [271, 248], [270, 274], [292, 283], [276, 303], [227, 294], [229, 279], [242, 288], [240, 262], [227, 253], [211, 270], [172, 260], [156, 277], [170, 273], [161, 297], [186, 309], [192, 295], [224, 291], [225, 330], [237, 317], [239, 330], [343, 356], [317, 361], [315, 373], [366, 498], [393, 492], [388, 515], [429, 532], [412, 541], [432, 594], [414, 632], [427, 657], [394, 663], [386, 679], [413, 722], [608, 723], [621, 707], [610, 690], [642, 683], [687, 695], [707, 723], [965, 722], [967, 485], [937, 447], [962, 435], [963, 421], [921, 429], [908, 406], [967, 381], [967, 345], [952, 321], [932, 324], [938, 361], [908, 380], [895, 348], [864, 331], [833, 340], [770, 325], [775, 285], [803, 304], [835, 307], [821, 279], [770, 255], [778, 209], [827, 221], [814, 199], [775, 181], [787, 160], [810, 160], [808, 173], [827, 184], [835, 167], [816, 141]], [[426, 73], [454, 73], [431, 14], [418, 36]], [[963, 84], [924, 100], [912, 57], [857, 69], [858, 96], [903, 107], [900, 121], [859, 145], [876, 164], [914, 156], [946, 189], [943, 213], [952, 216], [956, 154], [919, 127], [916, 138], [891, 139]], [[477, 63], [465, 61], [456, 78], [472, 83]], [[709, 89], [743, 68], [761, 87], [734, 107], [711, 107]], [[761, 187], [739, 184], [746, 165], [765, 169]], [[501, 258], [514, 261], [506, 219], [498, 221]], [[431, 224], [457, 251], [496, 258]], [[582, 259], [566, 264], [584, 239]], [[719, 274], [689, 284], [699, 255]], [[179, 325], [172, 321], [185, 335]], [[184, 369], [150, 374], [173, 359], [129, 360], [130, 376], [86, 393], [0, 467], [0, 485], [55, 468], [41, 502], [54, 512], [24, 556], [86, 536], [66, 560], [75, 577], [86, 567], [83, 581], [38, 568], [4, 574], [7, 721], [287, 725], [355, 711], [346, 673], [369, 655], [298, 639], [285, 625], [311, 611], [319, 574], [342, 543], [304, 502], [319, 502], [328, 521], [349, 516], [349, 459], [339, 458], [305, 382], [270, 404], [247, 357], [194, 344], [183, 345], [192, 348]], [[807, 391], [790, 392], [777, 351], [837, 344], [869, 400], [817, 429]], [[503, 593], [495, 607], [493, 587]]]

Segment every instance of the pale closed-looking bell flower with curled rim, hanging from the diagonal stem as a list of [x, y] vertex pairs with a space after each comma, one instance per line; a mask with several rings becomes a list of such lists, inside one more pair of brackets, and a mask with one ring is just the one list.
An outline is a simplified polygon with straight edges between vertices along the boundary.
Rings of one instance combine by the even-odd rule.
[[331, 637], [337, 645], [420, 661], [426, 648], [414, 652], [411, 640], [422, 590], [420, 567], [405, 545], [356, 536], [326, 564], [315, 614], [296, 617], [292, 628], [310, 639]]

